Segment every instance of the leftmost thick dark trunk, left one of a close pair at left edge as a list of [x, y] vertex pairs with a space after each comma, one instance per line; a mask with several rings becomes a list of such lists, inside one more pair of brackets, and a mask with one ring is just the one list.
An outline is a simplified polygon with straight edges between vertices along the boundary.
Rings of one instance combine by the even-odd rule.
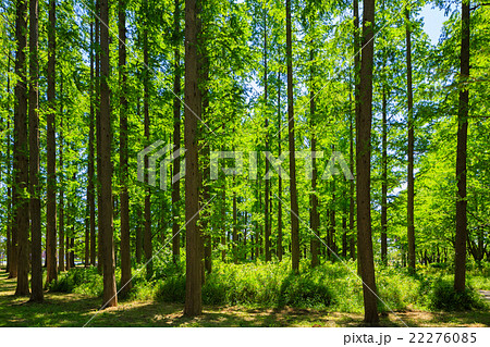
[[15, 38], [17, 53], [15, 58], [15, 73], [19, 76], [15, 86], [17, 99], [16, 132], [15, 136], [15, 224], [17, 232], [17, 287], [15, 295], [29, 294], [29, 200], [24, 191], [28, 186], [28, 136], [27, 136], [27, 84], [25, 49], [27, 47], [27, 1], [17, 0]]

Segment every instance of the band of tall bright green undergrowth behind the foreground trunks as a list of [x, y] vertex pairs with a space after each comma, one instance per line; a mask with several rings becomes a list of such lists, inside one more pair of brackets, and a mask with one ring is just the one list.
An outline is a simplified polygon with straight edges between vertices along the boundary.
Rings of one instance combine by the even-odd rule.
[[[215, 263], [213, 272], [203, 286], [205, 305], [247, 306], [260, 308], [313, 308], [339, 312], [363, 312], [362, 283], [355, 262], [326, 262], [314, 270], [302, 263], [299, 275], [291, 272], [290, 263]], [[182, 303], [185, 297], [184, 263], [157, 261], [154, 276], [146, 278], [145, 270], [133, 270], [133, 289], [127, 300], [156, 299]], [[485, 309], [474, 288], [486, 289], [489, 268], [468, 271], [468, 289], [454, 293], [450, 269], [419, 268], [416, 275], [405, 269], [377, 269], [381, 311], [471, 310]], [[120, 278], [120, 274], [117, 274]], [[120, 284], [118, 283], [118, 287]], [[97, 269], [72, 269], [50, 287], [52, 292], [100, 296], [102, 277]]]

